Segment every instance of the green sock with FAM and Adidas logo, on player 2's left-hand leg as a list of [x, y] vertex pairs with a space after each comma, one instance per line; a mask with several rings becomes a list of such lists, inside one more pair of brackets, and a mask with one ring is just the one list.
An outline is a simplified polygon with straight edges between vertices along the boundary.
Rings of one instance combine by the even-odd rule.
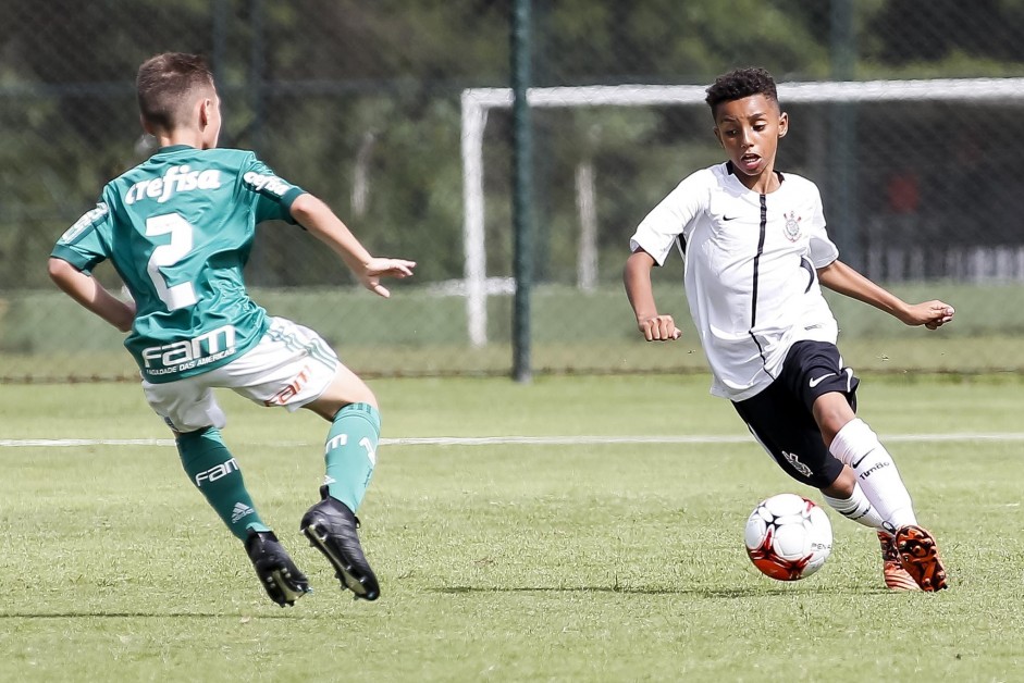
[[188, 479], [235, 536], [245, 541], [249, 529], [270, 531], [256, 512], [242, 471], [221, 433], [214, 427], [177, 437], [177, 452]]

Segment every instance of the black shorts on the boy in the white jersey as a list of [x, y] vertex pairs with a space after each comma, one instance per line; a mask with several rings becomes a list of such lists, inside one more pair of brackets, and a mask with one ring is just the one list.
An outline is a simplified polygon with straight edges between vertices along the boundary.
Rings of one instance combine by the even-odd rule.
[[823, 394], [839, 392], [856, 410], [859, 380], [835, 344], [798, 342], [786, 356], [781, 374], [766, 389], [732, 406], [765, 450], [791, 477], [826, 488], [842, 471], [818, 430], [811, 407]]

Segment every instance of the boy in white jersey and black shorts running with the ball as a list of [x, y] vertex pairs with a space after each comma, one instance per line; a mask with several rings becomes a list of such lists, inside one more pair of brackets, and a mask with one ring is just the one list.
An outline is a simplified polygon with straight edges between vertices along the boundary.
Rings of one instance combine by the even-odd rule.
[[917, 525], [891, 456], [855, 414], [858, 378], [842, 364], [821, 285], [929, 330], [953, 309], [906, 303], [839, 261], [817, 187], [775, 169], [789, 120], [766, 71], [720, 76], [706, 101], [728, 161], [684, 178], [633, 234], [624, 280], [640, 332], [649, 342], [681, 334], [651, 287], [651, 269], [675, 246], [712, 394], [732, 401], [790, 476], [877, 531], [889, 588], [945, 588], [935, 538]]

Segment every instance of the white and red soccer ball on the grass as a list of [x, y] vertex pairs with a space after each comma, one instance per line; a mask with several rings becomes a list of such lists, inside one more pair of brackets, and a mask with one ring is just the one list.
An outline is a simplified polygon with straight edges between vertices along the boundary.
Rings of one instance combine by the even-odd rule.
[[832, 525], [825, 510], [795, 494], [758, 502], [743, 535], [754, 567], [779, 581], [806, 579], [822, 569], [832, 550]]

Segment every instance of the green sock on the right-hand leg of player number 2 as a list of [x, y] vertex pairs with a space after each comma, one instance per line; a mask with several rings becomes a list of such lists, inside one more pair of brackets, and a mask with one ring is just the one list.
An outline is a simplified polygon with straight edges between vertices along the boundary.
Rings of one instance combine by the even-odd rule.
[[370, 485], [380, 438], [381, 413], [373, 406], [349, 403], [334, 415], [323, 449], [328, 468], [324, 483], [331, 496], [353, 512], [359, 509]]

